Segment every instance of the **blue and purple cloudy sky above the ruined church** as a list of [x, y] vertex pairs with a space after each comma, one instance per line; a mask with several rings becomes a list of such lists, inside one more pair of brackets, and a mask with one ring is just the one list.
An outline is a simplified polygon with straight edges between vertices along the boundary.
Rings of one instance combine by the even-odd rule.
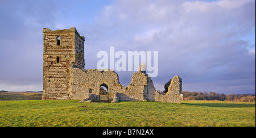
[[[158, 51], [156, 90], [255, 93], [255, 0], [0, 0], [0, 90], [43, 90], [43, 28], [76, 27], [85, 68], [99, 51]], [[134, 72], [117, 72], [129, 85]]]

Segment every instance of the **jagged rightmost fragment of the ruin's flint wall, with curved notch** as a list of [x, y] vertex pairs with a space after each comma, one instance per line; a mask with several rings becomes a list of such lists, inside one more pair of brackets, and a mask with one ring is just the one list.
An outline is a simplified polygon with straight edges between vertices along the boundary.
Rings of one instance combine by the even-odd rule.
[[[169, 85], [170, 84], [170, 85]], [[179, 76], [175, 76], [168, 81], [165, 87], [168, 86], [167, 93], [159, 94], [155, 92], [155, 101], [158, 102], [170, 102], [170, 103], [182, 103], [182, 80]]]

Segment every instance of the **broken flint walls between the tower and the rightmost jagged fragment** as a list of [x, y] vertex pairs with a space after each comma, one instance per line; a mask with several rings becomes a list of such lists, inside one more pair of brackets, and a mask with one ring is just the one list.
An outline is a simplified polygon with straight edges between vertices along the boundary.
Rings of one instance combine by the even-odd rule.
[[135, 72], [130, 85], [124, 89], [119, 83], [118, 74], [113, 70], [79, 69], [75, 66], [69, 70], [69, 98], [72, 100], [100, 102], [100, 86], [105, 84], [108, 86], [109, 102], [154, 101], [154, 85], [144, 72]]

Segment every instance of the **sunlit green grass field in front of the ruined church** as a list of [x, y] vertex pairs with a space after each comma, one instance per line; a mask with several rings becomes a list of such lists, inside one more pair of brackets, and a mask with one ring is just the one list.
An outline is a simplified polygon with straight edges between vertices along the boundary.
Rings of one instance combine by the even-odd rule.
[[255, 102], [0, 101], [0, 126], [255, 127]]

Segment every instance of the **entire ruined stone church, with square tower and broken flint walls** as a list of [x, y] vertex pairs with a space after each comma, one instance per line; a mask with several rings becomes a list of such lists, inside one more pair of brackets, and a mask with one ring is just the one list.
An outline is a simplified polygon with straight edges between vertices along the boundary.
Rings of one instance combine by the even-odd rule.
[[85, 69], [85, 37], [80, 36], [75, 27], [69, 30], [43, 28], [43, 41], [43, 100], [183, 101], [181, 78], [171, 78], [160, 93], [146, 73], [146, 64], [133, 74], [126, 88], [120, 84], [114, 70]]

